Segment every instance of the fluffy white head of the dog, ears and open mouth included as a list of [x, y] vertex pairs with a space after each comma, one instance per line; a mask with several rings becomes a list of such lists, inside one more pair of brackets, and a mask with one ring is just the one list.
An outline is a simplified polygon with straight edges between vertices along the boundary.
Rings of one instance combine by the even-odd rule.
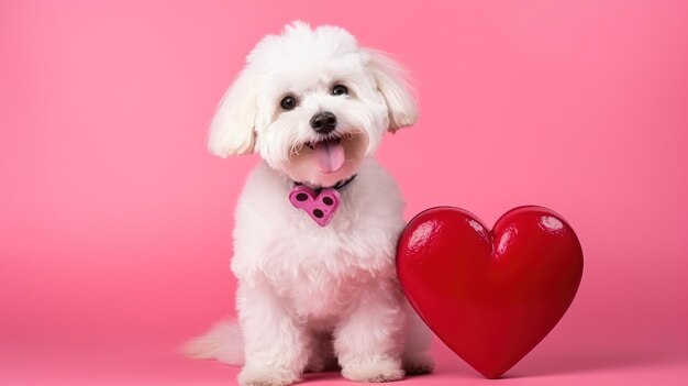
[[331, 186], [417, 115], [393, 60], [341, 27], [295, 22], [251, 52], [218, 107], [209, 148], [222, 157], [258, 152], [293, 180]]

